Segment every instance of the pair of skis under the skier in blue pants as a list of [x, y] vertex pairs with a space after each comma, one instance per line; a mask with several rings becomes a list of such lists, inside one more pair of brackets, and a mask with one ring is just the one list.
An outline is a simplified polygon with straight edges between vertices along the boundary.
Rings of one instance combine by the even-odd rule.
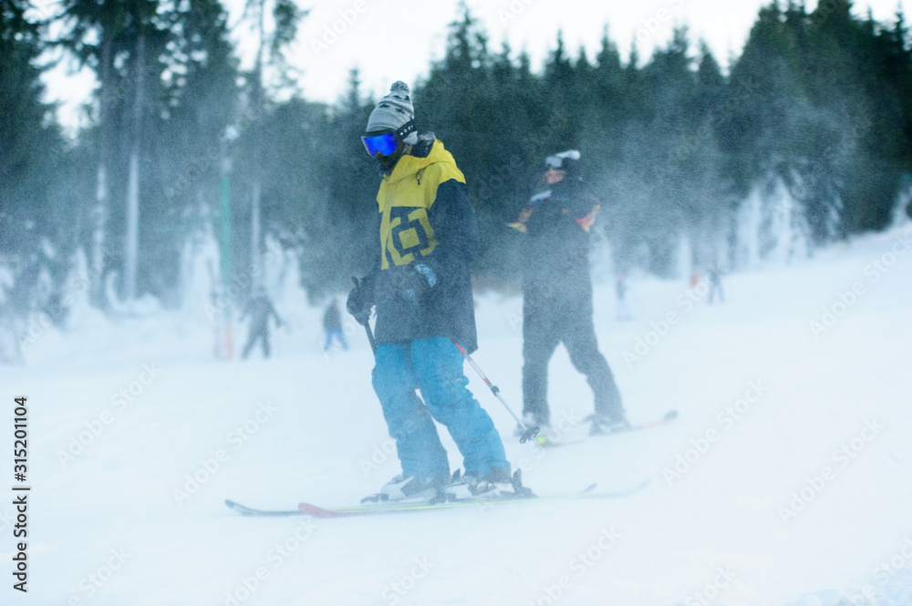
[[225, 499], [225, 505], [233, 511], [243, 516], [250, 517], [286, 517], [286, 516], [310, 516], [312, 518], [352, 518], [355, 516], [376, 516], [383, 514], [402, 514], [414, 513], [417, 511], [431, 511], [437, 509], [455, 509], [479, 507], [486, 508], [489, 506], [502, 506], [508, 503], [541, 503], [544, 501], [555, 500], [573, 500], [575, 498], [622, 498], [636, 494], [640, 490], [648, 487], [652, 478], [637, 485], [634, 488], [626, 490], [616, 490], [612, 492], [596, 492], [596, 484], [590, 484], [581, 492], [575, 495], [554, 496], [554, 497], [525, 497], [525, 498], [492, 498], [492, 499], [469, 499], [459, 501], [448, 501], [445, 503], [382, 503], [374, 505], [356, 505], [353, 507], [341, 508], [323, 508], [312, 503], [301, 503], [297, 509], [292, 510], [270, 510], [248, 508], [233, 500]]

